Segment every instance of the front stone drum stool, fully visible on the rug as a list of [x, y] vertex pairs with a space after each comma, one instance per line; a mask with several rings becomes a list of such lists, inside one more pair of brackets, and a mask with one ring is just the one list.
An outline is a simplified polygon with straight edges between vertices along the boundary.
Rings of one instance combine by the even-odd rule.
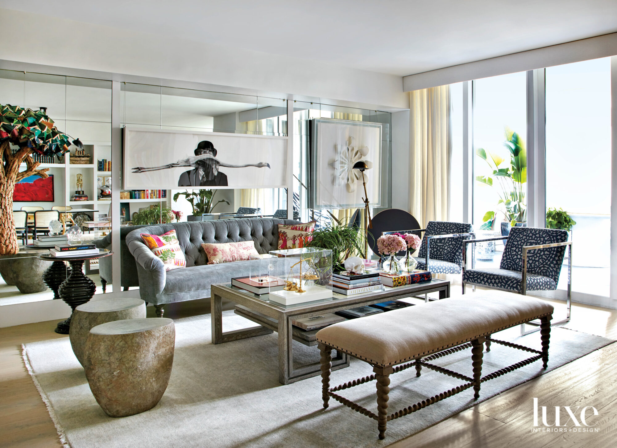
[[172, 319], [126, 319], [97, 325], [86, 341], [84, 368], [94, 398], [110, 417], [152, 409], [172, 374]]

